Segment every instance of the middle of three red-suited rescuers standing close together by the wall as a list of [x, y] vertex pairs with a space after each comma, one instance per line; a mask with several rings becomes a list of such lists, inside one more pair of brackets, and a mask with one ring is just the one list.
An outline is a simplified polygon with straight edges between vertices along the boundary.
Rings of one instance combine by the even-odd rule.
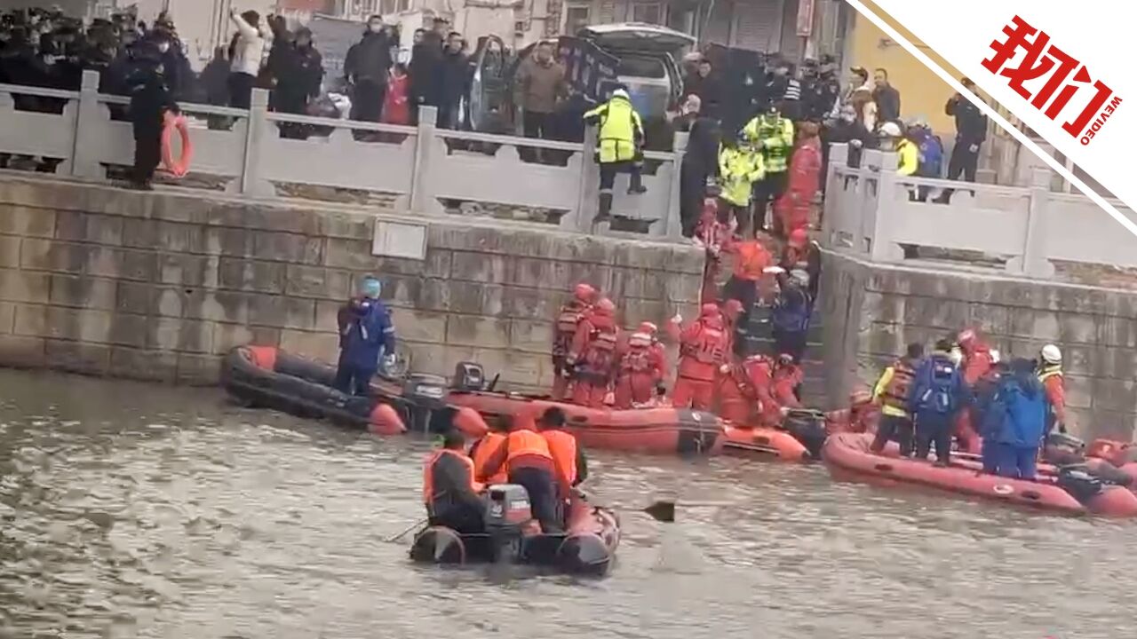
[[596, 302], [576, 327], [567, 363], [573, 367], [572, 401], [599, 408], [616, 375], [616, 306], [608, 298]]

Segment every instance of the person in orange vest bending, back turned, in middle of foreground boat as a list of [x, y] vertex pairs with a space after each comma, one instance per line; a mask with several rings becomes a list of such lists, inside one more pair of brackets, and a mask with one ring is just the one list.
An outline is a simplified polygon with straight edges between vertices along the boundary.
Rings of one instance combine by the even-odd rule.
[[523, 487], [529, 493], [533, 517], [540, 522], [541, 531], [546, 534], [562, 532], [556, 463], [549, 442], [532, 428], [531, 420], [516, 420], [514, 430], [485, 459], [483, 472], [492, 476], [504, 470], [509, 483]]

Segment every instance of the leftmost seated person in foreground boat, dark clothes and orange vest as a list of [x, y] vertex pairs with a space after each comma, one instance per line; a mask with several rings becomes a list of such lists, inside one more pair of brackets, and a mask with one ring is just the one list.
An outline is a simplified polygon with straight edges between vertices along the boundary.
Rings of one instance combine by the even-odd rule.
[[473, 534], [484, 532], [484, 505], [479, 496], [483, 487], [474, 478], [474, 462], [465, 446], [462, 433], [449, 431], [442, 438], [442, 448], [426, 458], [423, 504], [431, 525]]

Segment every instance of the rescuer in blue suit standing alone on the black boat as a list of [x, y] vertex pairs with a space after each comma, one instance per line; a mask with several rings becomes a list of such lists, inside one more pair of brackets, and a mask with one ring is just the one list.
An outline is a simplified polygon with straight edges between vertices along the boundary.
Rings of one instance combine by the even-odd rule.
[[395, 362], [395, 325], [379, 300], [381, 290], [379, 280], [368, 275], [358, 297], [340, 310], [340, 362], [332, 385], [341, 392], [366, 396], [380, 358], [387, 366]]

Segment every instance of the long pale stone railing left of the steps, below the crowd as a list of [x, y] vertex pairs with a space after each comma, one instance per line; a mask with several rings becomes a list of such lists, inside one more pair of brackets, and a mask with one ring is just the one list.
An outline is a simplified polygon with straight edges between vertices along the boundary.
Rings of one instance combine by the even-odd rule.
[[[55, 158], [61, 160], [57, 174], [96, 181], [107, 179], [108, 166], [130, 166], [131, 125], [110, 116], [127, 101], [100, 94], [98, 83], [98, 74], [86, 72], [77, 92], [0, 84], [0, 153]], [[30, 97], [55, 101], [59, 113], [17, 108]], [[274, 197], [284, 184], [350, 189], [389, 194], [402, 213], [438, 215], [443, 202], [476, 202], [543, 209], [563, 230], [592, 230], [599, 177], [591, 132], [578, 144], [440, 130], [430, 107], [421, 109], [417, 126], [397, 126], [271, 113], [267, 106], [262, 90], [254, 91], [249, 110], [182, 105], [192, 118], [193, 173], [254, 197]], [[279, 130], [289, 123], [330, 134], [282, 138]], [[613, 213], [621, 229], [679, 238], [686, 135], [677, 135], [674, 148], [646, 153], [646, 194], [626, 196], [628, 179], [619, 177]], [[555, 161], [522, 161], [536, 152]]]

